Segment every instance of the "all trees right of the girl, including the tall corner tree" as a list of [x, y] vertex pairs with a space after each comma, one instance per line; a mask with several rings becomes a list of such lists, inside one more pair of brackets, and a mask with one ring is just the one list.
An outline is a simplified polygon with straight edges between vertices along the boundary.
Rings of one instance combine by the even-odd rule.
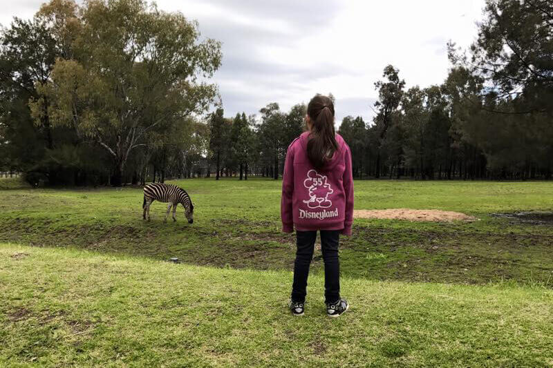
[[469, 50], [449, 43], [443, 84], [406, 90], [388, 66], [372, 124], [341, 122], [357, 177], [551, 178], [553, 2], [487, 0], [484, 12]]

